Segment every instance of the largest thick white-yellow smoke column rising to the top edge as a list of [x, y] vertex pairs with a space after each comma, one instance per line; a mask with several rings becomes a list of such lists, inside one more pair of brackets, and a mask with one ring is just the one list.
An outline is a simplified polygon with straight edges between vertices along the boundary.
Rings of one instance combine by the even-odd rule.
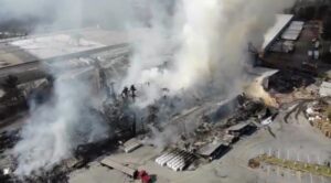
[[[172, 95], [196, 89], [209, 95], [211, 90], [224, 96], [239, 93], [243, 72], [249, 65], [248, 43], [260, 46], [276, 13], [293, 0], [177, 2], [177, 11], [167, 14], [171, 23], [153, 14], [150, 32], [137, 44], [125, 80], [149, 83], [143, 87], [148, 92], [142, 107], [158, 99], [162, 87]], [[160, 10], [156, 14], [159, 12], [166, 14]]]

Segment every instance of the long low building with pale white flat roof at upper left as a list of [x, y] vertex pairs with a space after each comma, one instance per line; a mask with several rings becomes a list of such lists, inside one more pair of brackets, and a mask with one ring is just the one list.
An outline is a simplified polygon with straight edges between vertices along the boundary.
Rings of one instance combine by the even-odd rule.
[[[9, 74], [25, 83], [45, 77], [50, 63], [57, 65], [92, 65], [90, 56], [125, 56], [134, 36], [126, 32], [99, 28], [58, 31], [47, 34], [8, 39], [0, 42], [0, 82]], [[94, 56], [97, 57], [97, 56]]]

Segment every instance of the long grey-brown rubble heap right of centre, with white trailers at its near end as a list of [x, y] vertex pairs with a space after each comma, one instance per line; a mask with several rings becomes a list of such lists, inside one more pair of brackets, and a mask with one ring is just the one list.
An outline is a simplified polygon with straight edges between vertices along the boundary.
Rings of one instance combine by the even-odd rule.
[[[174, 126], [180, 130], [179, 138], [157, 157], [156, 163], [173, 171], [195, 169], [200, 163], [220, 159], [241, 137], [254, 133], [263, 126], [264, 120], [273, 120], [278, 114], [276, 108], [267, 107], [245, 95], [216, 106], [211, 110], [202, 105], [174, 116], [164, 130], [168, 126]], [[149, 116], [154, 119], [160, 109], [153, 106], [150, 111], [153, 112]], [[190, 122], [194, 119], [194, 122]], [[190, 129], [192, 126], [196, 128]], [[162, 127], [159, 129], [162, 132]]]

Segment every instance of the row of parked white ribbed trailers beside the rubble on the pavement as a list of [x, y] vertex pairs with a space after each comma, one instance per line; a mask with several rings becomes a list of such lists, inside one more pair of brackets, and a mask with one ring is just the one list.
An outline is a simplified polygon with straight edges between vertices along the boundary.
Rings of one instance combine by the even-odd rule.
[[195, 157], [192, 153], [182, 150], [172, 150], [163, 153], [156, 159], [156, 163], [161, 166], [168, 166], [173, 171], [183, 171], [186, 166], [190, 165], [195, 160]]

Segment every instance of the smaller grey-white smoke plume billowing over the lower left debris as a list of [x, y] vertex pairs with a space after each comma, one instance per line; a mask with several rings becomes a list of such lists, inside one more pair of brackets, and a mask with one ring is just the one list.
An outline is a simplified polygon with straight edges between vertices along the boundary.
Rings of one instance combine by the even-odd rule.
[[13, 149], [18, 175], [49, 170], [72, 157], [78, 144], [107, 138], [108, 127], [88, 110], [93, 105], [89, 84], [77, 78], [57, 79], [53, 99], [31, 109], [22, 140]]

